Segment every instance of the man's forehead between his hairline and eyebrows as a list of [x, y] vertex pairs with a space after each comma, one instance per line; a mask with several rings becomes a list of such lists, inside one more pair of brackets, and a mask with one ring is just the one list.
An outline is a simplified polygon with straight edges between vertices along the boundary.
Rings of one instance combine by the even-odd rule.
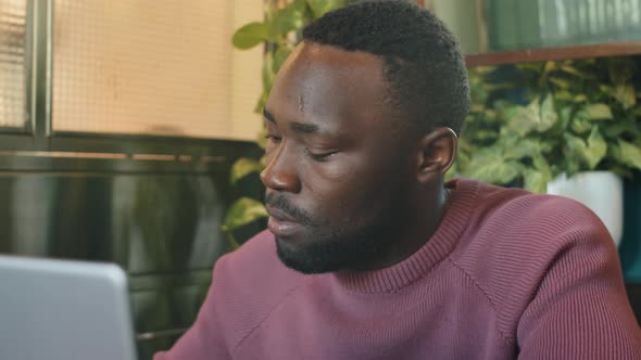
[[310, 123], [329, 132], [385, 117], [381, 64], [368, 53], [303, 42], [278, 73], [266, 110], [279, 127], [282, 121]]

